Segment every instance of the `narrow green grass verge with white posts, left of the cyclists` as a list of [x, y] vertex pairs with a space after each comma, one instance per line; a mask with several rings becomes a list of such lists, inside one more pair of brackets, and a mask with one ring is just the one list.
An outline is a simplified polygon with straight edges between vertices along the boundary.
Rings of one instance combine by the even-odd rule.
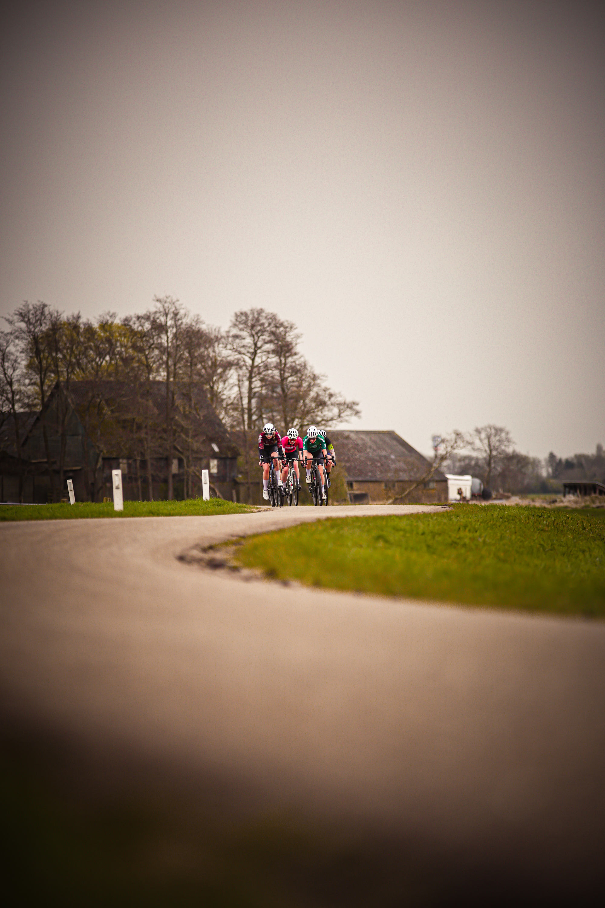
[[74, 505], [0, 505], [2, 520], [73, 520], [79, 518], [125, 518], [125, 517], [185, 517], [211, 514], [245, 514], [252, 510], [248, 505], [234, 504], [222, 498], [188, 498], [187, 501], [124, 501], [123, 511], [114, 511], [111, 502], [76, 501]]

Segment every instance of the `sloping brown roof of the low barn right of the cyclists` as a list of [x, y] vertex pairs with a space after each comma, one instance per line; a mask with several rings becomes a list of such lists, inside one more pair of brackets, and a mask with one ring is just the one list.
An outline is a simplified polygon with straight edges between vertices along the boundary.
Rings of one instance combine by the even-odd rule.
[[[329, 431], [337, 462], [346, 469], [346, 479], [356, 482], [405, 482], [422, 479], [429, 461], [396, 432], [346, 429]], [[447, 480], [440, 470], [431, 477]]]

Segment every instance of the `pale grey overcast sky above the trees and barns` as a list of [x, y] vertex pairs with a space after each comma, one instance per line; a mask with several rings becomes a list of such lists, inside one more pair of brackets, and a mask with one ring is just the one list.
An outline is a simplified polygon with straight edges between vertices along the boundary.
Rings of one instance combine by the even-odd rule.
[[0, 315], [263, 306], [360, 401], [351, 428], [605, 442], [596, 4], [15, 10]]

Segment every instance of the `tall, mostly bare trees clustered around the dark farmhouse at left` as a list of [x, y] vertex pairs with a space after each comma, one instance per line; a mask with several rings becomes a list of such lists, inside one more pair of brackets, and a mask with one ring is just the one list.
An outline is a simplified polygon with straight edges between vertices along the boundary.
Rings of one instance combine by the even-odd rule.
[[[57, 382], [68, 395], [73, 383], [80, 383], [79, 414], [100, 458], [112, 425], [120, 433], [124, 456], [146, 464], [150, 497], [151, 454], [159, 442], [169, 465], [175, 451], [183, 458], [185, 497], [191, 493], [198, 454], [192, 427], [193, 417], [200, 416], [200, 390], [239, 446], [248, 482], [263, 423], [288, 429], [359, 415], [357, 402], [331, 389], [307, 361], [297, 326], [261, 308], [235, 312], [227, 331], [191, 315], [171, 296], [154, 297], [140, 314], [118, 318], [104, 312], [95, 320], [80, 312], [65, 315], [43, 301], [24, 301], [5, 322], [7, 328], [0, 332], [0, 419], [13, 416], [20, 470], [23, 414], [44, 413]], [[157, 382], [163, 387], [160, 424], [151, 407]], [[126, 399], [130, 417], [117, 425], [112, 418], [118, 411], [123, 414]], [[58, 462], [51, 458], [44, 421], [42, 426], [53, 495], [54, 470], [63, 489], [66, 410], [59, 416]], [[174, 498], [171, 469], [168, 498]]]

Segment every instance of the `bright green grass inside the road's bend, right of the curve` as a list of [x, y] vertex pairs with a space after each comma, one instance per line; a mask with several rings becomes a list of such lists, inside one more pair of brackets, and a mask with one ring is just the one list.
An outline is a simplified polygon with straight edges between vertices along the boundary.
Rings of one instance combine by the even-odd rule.
[[605, 508], [492, 505], [340, 518], [251, 537], [244, 567], [314, 587], [605, 616]]

